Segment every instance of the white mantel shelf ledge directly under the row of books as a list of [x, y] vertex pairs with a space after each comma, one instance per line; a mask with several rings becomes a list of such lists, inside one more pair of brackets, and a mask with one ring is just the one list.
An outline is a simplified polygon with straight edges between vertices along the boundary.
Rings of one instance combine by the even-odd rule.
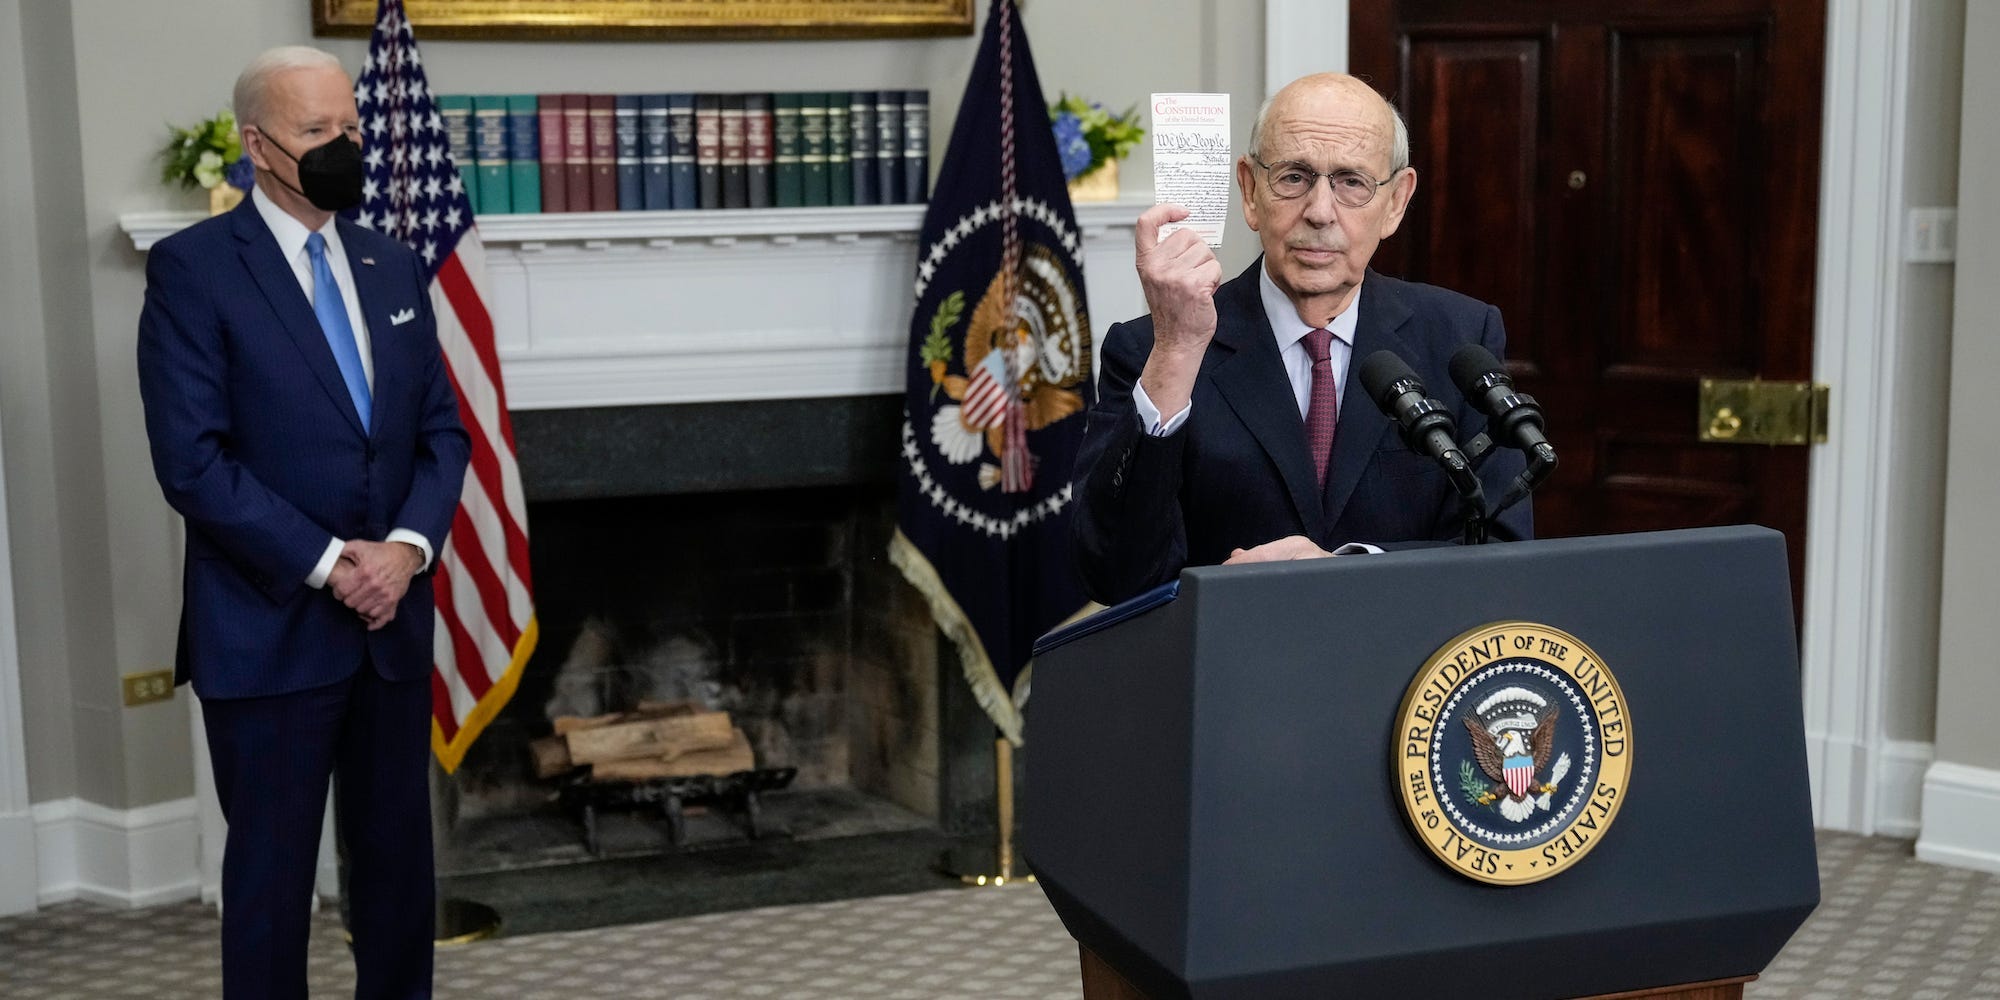
[[[1084, 236], [1100, 236], [1112, 228], [1132, 228], [1140, 212], [1152, 208], [1152, 198], [1120, 198], [1116, 202], [1076, 202], [1076, 226]], [[200, 212], [130, 212], [118, 216], [118, 226], [140, 252], [208, 216]], [[924, 224], [920, 204], [882, 204], [862, 208], [720, 208], [692, 212], [558, 212], [480, 216], [480, 242], [486, 246], [518, 246], [532, 250], [554, 244], [656, 244], [714, 240], [772, 240], [898, 236], [916, 238]]]

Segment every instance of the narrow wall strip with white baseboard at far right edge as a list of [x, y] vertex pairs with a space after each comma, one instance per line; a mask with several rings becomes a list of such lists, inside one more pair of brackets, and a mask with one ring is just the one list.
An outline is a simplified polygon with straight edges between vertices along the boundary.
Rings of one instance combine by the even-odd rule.
[[1952, 306], [1950, 446], [1944, 480], [1944, 574], [1938, 608], [1936, 764], [1924, 776], [1918, 858], [2000, 872], [2000, 670], [1994, 670], [1994, 566], [2000, 504], [1994, 426], [2000, 400], [2000, 6], [1966, 12], [1964, 118], [1958, 146], [1958, 274]]

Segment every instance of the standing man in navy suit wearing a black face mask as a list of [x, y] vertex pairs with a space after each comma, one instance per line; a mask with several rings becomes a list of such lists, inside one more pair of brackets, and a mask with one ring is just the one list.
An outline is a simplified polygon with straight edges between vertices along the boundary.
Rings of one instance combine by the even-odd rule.
[[310, 48], [236, 82], [256, 190], [152, 248], [138, 326], [154, 472], [186, 518], [176, 672], [202, 698], [226, 998], [304, 998], [328, 778], [356, 996], [430, 996], [428, 570], [468, 438], [426, 282], [360, 200], [354, 84]]

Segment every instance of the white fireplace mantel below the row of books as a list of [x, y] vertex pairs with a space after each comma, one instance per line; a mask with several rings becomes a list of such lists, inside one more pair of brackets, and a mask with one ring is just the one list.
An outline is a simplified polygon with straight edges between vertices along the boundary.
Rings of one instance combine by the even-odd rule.
[[[1146, 312], [1132, 226], [1076, 206], [1092, 330]], [[202, 216], [128, 214], [148, 250]], [[902, 392], [924, 206], [480, 218], [514, 410]]]

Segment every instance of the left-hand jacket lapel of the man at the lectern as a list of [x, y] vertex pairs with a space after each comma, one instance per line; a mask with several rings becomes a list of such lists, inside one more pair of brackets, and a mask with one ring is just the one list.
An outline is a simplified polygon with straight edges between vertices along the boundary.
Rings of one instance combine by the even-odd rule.
[[1318, 538], [1326, 524], [1320, 484], [1306, 452], [1306, 422], [1298, 416], [1292, 380], [1284, 374], [1278, 340], [1258, 294], [1262, 266], [1264, 258], [1258, 258], [1250, 270], [1216, 290], [1216, 344], [1230, 354], [1216, 362], [1208, 378], [1278, 466], [1306, 536]]

